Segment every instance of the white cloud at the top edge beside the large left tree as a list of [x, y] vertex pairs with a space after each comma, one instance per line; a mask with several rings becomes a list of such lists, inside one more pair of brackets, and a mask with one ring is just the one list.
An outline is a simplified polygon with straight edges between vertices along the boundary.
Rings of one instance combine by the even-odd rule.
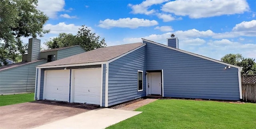
[[64, 11], [64, 0], [38, 0], [38, 8], [49, 18], [57, 18], [57, 13]]

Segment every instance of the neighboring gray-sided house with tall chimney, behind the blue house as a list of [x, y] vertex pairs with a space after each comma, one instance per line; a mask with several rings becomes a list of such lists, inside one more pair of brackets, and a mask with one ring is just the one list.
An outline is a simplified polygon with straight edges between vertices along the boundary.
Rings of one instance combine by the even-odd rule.
[[40, 39], [31, 38], [22, 62], [0, 67], [0, 94], [34, 92], [37, 65], [84, 52], [80, 45], [40, 51]]

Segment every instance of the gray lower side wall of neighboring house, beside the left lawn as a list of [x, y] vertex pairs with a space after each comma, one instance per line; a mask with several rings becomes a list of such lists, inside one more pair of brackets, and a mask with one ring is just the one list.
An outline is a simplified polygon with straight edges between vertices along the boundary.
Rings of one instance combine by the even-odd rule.
[[36, 66], [44, 63], [45, 60], [1, 71], [0, 94], [34, 92]]

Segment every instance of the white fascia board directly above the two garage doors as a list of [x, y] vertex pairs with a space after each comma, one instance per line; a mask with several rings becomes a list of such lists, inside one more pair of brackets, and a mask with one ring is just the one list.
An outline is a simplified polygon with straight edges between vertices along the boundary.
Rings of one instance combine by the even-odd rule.
[[71, 64], [71, 65], [36, 66], [36, 68], [60, 68], [60, 67], [72, 67], [72, 66], [101, 65], [106, 63], [107, 61], [102, 61], [102, 62]]

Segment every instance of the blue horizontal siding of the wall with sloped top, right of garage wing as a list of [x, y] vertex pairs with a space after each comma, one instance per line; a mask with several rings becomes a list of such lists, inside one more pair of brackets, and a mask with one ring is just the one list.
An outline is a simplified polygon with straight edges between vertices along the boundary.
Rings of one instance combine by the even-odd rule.
[[147, 70], [164, 70], [164, 97], [240, 100], [238, 68], [147, 43]]

